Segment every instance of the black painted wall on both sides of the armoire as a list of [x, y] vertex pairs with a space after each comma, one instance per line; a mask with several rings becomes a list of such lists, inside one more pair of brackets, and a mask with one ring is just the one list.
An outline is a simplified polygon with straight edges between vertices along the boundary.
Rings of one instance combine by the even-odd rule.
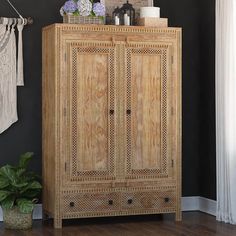
[[[23, 16], [32, 16], [34, 24], [23, 34], [25, 86], [18, 88], [19, 121], [0, 134], [0, 165], [16, 163], [21, 153], [33, 151], [31, 167], [41, 173], [41, 29], [61, 22], [64, 0], [12, 3]], [[214, 199], [214, 0], [158, 0], [155, 4], [170, 26], [183, 27], [183, 195]], [[4, 0], [0, 16], [16, 16]]]

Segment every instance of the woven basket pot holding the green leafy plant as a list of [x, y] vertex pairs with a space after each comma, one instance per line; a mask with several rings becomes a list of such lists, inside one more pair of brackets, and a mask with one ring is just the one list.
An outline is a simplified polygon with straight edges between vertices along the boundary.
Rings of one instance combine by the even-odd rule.
[[32, 228], [32, 212], [21, 213], [18, 207], [3, 210], [3, 222], [6, 229], [30, 229]]

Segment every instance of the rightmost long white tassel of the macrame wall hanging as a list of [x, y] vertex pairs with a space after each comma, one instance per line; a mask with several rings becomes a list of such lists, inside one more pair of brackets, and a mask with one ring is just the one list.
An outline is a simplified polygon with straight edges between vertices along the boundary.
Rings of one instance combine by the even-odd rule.
[[23, 43], [22, 31], [24, 23], [18, 23], [18, 59], [17, 59], [17, 86], [24, 86], [24, 66], [23, 66]]

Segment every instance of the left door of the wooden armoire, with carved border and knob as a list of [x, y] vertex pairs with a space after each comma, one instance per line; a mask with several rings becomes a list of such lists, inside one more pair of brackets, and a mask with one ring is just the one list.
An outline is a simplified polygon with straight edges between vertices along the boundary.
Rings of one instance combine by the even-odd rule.
[[[116, 178], [116, 46], [97, 35], [65, 36], [61, 78], [63, 184]], [[63, 74], [64, 73], [64, 74]]]

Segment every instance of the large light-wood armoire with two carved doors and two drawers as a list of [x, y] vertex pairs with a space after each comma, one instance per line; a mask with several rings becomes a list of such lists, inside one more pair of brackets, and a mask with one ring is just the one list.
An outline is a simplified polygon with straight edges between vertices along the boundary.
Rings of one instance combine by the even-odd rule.
[[43, 29], [43, 212], [181, 220], [181, 29]]

